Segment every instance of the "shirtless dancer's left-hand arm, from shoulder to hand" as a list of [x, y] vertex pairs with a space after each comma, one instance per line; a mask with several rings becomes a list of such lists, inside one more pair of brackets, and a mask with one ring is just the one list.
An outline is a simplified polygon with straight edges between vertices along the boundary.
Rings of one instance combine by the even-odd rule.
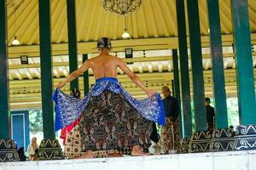
[[67, 82], [73, 81], [75, 78], [79, 77], [83, 72], [88, 71], [89, 68], [90, 68], [90, 59], [84, 61], [84, 64], [81, 65], [78, 70], [73, 71], [73, 72], [67, 77], [67, 79], [66, 79], [65, 81], [60, 82], [60, 83], [57, 85], [57, 88], [62, 88], [63, 86], [65, 86], [65, 84], [67, 84]]

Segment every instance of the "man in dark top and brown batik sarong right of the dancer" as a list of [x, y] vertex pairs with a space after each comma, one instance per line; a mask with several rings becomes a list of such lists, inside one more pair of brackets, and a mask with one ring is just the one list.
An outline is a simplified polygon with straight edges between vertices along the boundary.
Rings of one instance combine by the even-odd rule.
[[179, 105], [177, 99], [172, 97], [170, 88], [163, 87], [162, 94], [164, 108], [166, 111], [166, 124], [161, 132], [161, 142], [165, 154], [173, 154], [180, 152], [178, 115]]

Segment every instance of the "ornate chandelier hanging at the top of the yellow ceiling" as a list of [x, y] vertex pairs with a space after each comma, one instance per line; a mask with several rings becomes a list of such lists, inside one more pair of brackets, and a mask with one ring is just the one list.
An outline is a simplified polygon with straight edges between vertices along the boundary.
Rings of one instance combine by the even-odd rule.
[[117, 14], [128, 14], [137, 10], [142, 0], [102, 0], [103, 8]]

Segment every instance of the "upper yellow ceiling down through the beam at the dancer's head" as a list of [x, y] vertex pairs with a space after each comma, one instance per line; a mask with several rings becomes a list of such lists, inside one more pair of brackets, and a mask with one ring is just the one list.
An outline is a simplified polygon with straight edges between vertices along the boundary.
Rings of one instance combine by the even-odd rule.
[[[135, 13], [128, 14], [131, 40], [122, 40], [124, 16], [102, 8], [102, 0], [76, 0], [76, 25], [79, 54], [96, 52], [99, 37], [110, 37], [113, 50], [123, 51], [126, 46], [137, 50], [177, 48], [176, 0], [143, 0]], [[204, 47], [209, 46], [207, 1], [199, 0], [201, 36]], [[14, 5], [15, 4], [15, 5]], [[249, 0], [251, 32], [256, 32], [256, 1]], [[219, 0], [221, 32], [224, 45], [232, 43], [230, 0]], [[9, 56], [38, 55], [39, 27], [38, 0], [8, 0]], [[53, 54], [67, 54], [66, 0], [51, 1], [51, 32]], [[17, 28], [15, 32], [15, 27]], [[187, 34], [189, 34], [187, 20]], [[22, 44], [12, 47], [17, 36]], [[256, 36], [252, 36], [256, 43]]]

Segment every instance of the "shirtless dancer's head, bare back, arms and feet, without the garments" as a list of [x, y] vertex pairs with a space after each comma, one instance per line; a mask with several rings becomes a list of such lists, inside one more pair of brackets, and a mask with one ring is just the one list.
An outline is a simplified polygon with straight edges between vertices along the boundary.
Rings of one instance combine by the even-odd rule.
[[[107, 43], [107, 45], [106, 45]], [[64, 82], [60, 82], [57, 88], [62, 88], [67, 84], [67, 82], [73, 81], [75, 78], [79, 77], [84, 71], [92, 69], [94, 77], [97, 79], [102, 77], [117, 77], [117, 68], [119, 67], [125, 74], [131, 78], [131, 81], [135, 82], [138, 87], [142, 88], [145, 94], [152, 99], [154, 92], [148, 89], [144, 83], [129, 69], [125, 62], [118, 57], [109, 54], [111, 44], [109, 45], [109, 40], [107, 37], [102, 37], [98, 42], [97, 47], [99, 55], [92, 59], [87, 59], [77, 71], [73, 71]], [[143, 156], [145, 153], [139, 145], [134, 145], [131, 150], [132, 156]], [[85, 157], [92, 157], [92, 150], [87, 150]]]

